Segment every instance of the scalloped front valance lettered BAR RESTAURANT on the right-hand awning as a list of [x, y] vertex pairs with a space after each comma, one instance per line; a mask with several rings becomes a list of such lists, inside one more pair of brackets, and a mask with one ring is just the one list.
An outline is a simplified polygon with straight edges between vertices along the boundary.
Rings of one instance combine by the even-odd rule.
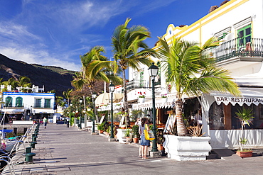
[[225, 105], [228, 105], [228, 103], [231, 103], [233, 106], [236, 104], [239, 104], [240, 106], [243, 106], [243, 104], [247, 104], [247, 106], [250, 106], [252, 103], [256, 106], [259, 105], [259, 103], [263, 104], [263, 98], [257, 98], [257, 97], [233, 97], [233, 96], [214, 96], [215, 101], [218, 105], [221, 103], [224, 103]]

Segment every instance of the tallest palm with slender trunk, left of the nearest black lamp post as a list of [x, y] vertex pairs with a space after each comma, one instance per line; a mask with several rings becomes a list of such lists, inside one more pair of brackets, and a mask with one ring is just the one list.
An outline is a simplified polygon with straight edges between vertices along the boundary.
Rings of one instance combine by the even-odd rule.
[[124, 111], [126, 121], [129, 126], [129, 113], [127, 106], [127, 86], [126, 69], [132, 67], [139, 70], [140, 64], [151, 65], [150, 56], [155, 52], [144, 43], [146, 38], [150, 38], [150, 32], [144, 26], [132, 26], [128, 28], [131, 18], [127, 18], [124, 24], [117, 26], [112, 35], [112, 47], [114, 53], [114, 68], [122, 69], [123, 89], [124, 89]]

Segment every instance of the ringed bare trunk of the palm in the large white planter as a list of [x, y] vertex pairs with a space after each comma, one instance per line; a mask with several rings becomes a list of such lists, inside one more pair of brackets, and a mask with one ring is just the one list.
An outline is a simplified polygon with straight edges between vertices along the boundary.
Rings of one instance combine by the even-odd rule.
[[186, 125], [183, 123], [183, 101], [178, 99], [176, 101], [176, 123], [178, 136], [185, 136], [188, 134]]

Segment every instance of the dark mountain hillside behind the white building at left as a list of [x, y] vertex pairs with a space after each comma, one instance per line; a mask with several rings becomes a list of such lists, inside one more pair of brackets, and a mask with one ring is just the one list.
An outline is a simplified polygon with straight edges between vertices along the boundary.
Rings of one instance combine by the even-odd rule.
[[74, 73], [74, 71], [61, 67], [42, 66], [11, 60], [0, 54], [0, 78], [3, 78], [2, 81], [6, 81], [11, 77], [18, 79], [20, 76], [26, 76], [31, 79], [32, 84], [40, 88], [44, 85], [45, 92], [55, 89], [56, 96], [63, 96], [63, 91], [73, 89], [70, 81], [73, 80]]

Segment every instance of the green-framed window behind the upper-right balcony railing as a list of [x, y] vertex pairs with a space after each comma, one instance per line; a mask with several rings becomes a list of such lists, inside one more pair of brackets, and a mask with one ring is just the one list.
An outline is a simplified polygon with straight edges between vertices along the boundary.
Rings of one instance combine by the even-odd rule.
[[252, 28], [251, 24], [237, 30], [238, 47], [245, 47], [248, 42], [251, 42]]

